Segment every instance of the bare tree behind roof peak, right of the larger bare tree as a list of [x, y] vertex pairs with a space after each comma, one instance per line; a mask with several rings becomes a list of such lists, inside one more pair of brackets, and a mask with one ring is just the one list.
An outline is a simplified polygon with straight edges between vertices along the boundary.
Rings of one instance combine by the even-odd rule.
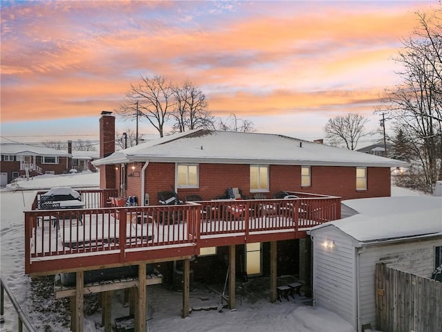
[[175, 119], [173, 131], [213, 128], [214, 118], [207, 111], [206, 96], [200, 89], [186, 80], [182, 86], [173, 88], [173, 95], [175, 97], [175, 109], [171, 113], [171, 117]]

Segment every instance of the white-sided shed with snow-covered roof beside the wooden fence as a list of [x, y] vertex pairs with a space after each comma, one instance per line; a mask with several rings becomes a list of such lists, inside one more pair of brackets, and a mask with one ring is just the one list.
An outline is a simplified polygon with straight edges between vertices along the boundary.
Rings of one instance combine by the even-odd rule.
[[442, 264], [442, 197], [396, 196], [343, 201], [354, 215], [310, 231], [317, 306], [362, 331], [376, 326], [376, 263], [421, 277]]

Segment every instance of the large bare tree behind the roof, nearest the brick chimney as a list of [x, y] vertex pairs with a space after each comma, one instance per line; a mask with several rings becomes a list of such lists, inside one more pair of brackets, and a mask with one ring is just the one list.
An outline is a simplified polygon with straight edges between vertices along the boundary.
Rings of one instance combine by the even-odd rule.
[[115, 111], [125, 118], [146, 118], [164, 136], [164, 123], [174, 107], [173, 86], [164, 76], [140, 75], [139, 84], [131, 84], [126, 99]]

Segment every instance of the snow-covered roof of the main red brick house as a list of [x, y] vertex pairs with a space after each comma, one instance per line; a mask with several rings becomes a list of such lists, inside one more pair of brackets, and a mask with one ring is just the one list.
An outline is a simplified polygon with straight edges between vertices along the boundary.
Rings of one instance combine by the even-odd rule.
[[197, 129], [120, 150], [94, 165], [142, 161], [400, 167], [398, 160], [269, 133]]

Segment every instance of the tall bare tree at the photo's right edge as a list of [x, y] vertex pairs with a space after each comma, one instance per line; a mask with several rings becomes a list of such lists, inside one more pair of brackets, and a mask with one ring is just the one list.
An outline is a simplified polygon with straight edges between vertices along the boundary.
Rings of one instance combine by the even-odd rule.
[[388, 112], [394, 129], [407, 137], [415, 185], [432, 192], [432, 185], [442, 178], [442, 28], [437, 17], [441, 9], [431, 16], [417, 15], [419, 28], [403, 41], [395, 59], [403, 67], [398, 72], [403, 83], [385, 91], [378, 111]]

